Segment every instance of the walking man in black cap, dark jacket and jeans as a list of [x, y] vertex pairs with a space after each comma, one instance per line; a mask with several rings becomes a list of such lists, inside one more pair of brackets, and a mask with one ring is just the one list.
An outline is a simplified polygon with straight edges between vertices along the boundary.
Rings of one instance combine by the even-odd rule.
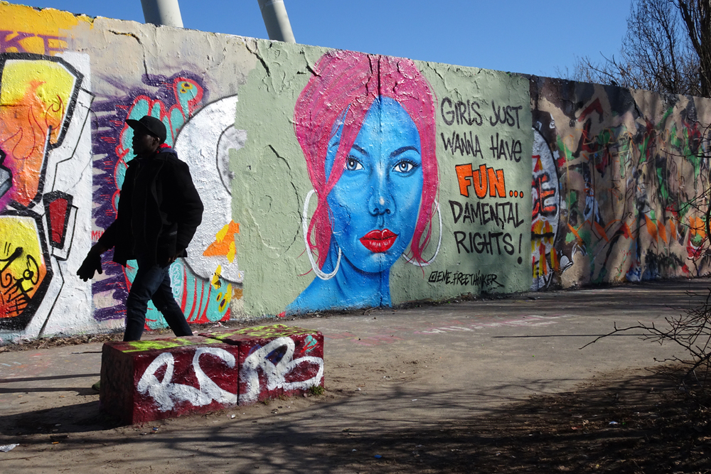
[[101, 255], [114, 247], [114, 262], [138, 261], [126, 300], [124, 341], [140, 340], [152, 300], [178, 336], [193, 335], [173, 298], [169, 269], [186, 248], [203, 216], [203, 203], [188, 165], [166, 141], [166, 126], [154, 117], [128, 119], [136, 158], [128, 162], [116, 220], [90, 249], [77, 275], [87, 281], [102, 273]]

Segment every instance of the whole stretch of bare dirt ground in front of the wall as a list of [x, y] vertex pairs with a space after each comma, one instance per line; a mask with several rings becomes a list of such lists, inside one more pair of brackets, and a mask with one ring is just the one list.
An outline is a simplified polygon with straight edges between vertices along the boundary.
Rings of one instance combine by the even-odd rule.
[[[638, 368], [653, 360], [651, 352], [633, 360], [651, 347], [635, 335], [579, 350], [612, 321], [667, 314], [682, 290], [289, 321], [330, 335], [324, 394], [135, 426], [102, 415], [90, 388], [99, 343], [120, 334], [4, 346], [0, 370], [21, 360], [15, 351], [36, 362], [0, 379], [0, 445], [18, 443], [0, 452], [0, 472], [711, 473], [711, 397], [659, 366]], [[646, 306], [631, 311], [630, 301]], [[545, 325], [525, 325], [529, 317]], [[81, 345], [64, 347], [72, 344]], [[47, 377], [52, 358], [85, 367]]]

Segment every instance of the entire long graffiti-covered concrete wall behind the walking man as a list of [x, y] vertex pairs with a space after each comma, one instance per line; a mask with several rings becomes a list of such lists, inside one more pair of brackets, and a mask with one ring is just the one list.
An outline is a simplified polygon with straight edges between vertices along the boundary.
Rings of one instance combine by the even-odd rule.
[[135, 268], [75, 271], [144, 114], [205, 204], [171, 267], [191, 323], [700, 271], [670, 205], [707, 163], [659, 153], [708, 101], [6, 3], [0, 65], [4, 340], [122, 327]]

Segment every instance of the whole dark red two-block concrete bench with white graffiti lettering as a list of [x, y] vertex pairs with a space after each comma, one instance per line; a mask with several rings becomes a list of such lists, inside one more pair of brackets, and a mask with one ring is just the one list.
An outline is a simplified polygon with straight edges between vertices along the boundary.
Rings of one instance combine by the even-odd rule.
[[105, 343], [100, 406], [124, 424], [245, 405], [324, 385], [324, 336], [286, 325]]

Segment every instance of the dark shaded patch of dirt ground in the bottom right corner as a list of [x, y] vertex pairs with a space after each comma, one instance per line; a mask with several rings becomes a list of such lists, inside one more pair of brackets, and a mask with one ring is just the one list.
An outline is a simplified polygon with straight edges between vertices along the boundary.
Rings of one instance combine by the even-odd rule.
[[[392, 469], [472, 473], [708, 473], [708, 397], [663, 375], [617, 372], [575, 392], [531, 397], [495, 416], [399, 433], [385, 451]], [[383, 443], [383, 440], [379, 440]], [[419, 466], [417, 465], [419, 463]], [[410, 468], [410, 470], [413, 470]]]

